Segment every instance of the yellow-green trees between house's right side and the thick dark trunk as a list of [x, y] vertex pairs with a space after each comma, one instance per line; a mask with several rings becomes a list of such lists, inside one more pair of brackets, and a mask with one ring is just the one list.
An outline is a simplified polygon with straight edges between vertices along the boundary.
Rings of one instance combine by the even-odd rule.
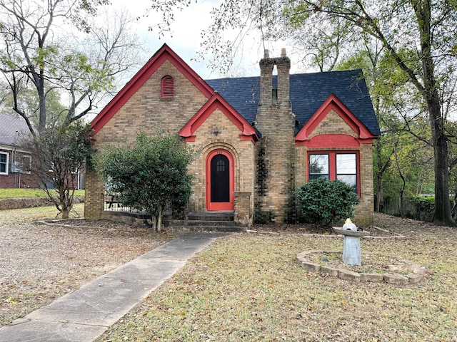
[[[381, 212], [384, 180], [386, 196], [402, 202], [403, 195], [430, 192], [428, 184], [431, 137], [424, 113], [417, 108], [416, 89], [378, 41], [365, 36], [360, 50], [338, 63], [336, 69], [362, 68], [368, 83], [373, 107], [381, 128], [374, 142], [373, 160], [376, 185], [376, 210]], [[432, 150], [433, 151], [433, 150]], [[432, 153], [433, 158], [433, 153]], [[433, 170], [433, 165], [431, 167]], [[433, 181], [431, 181], [433, 185]], [[400, 207], [403, 210], [403, 206]]]

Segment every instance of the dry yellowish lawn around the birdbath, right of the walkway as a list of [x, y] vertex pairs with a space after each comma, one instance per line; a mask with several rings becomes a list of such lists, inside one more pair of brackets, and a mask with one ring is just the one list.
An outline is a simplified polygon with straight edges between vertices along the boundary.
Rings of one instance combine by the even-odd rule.
[[304, 250], [341, 250], [340, 239], [221, 239], [97, 341], [457, 341], [456, 230], [409, 236], [362, 244], [426, 266], [407, 286], [351, 283], [296, 263]]

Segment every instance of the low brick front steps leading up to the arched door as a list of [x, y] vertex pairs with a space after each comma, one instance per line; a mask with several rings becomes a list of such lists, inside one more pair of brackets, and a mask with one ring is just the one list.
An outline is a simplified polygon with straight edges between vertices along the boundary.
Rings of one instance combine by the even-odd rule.
[[164, 225], [172, 232], [246, 232], [246, 226], [233, 217], [233, 211], [189, 212], [189, 219], [167, 219]]

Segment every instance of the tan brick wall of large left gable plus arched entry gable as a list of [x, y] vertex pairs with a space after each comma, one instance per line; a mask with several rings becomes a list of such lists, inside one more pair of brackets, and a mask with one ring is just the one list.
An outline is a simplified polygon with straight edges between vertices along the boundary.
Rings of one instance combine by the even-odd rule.
[[[174, 98], [161, 98], [161, 78], [174, 78]], [[179, 130], [197, 113], [208, 100], [180, 71], [166, 61], [149, 78], [128, 102], [96, 134], [95, 149], [106, 145], [133, 145], [136, 133], [142, 130], [153, 134], [156, 128], [164, 128], [178, 134]], [[217, 126], [219, 134], [214, 134]], [[189, 210], [206, 210], [206, 157], [212, 150], [223, 148], [234, 159], [234, 190], [252, 191], [254, 169], [254, 145], [241, 140], [241, 131], [220, 110], [216, 110], [194, 133], [196, 140], [187, 142], [196, 151], [189, 165], [189, 172], [196, 176]], [[86, 174], [86, 212], [90, 219], [99, 219], [104, 207], [104, 183], [96, 172]], [[251, 197], [251, 212], [253, 199]]]

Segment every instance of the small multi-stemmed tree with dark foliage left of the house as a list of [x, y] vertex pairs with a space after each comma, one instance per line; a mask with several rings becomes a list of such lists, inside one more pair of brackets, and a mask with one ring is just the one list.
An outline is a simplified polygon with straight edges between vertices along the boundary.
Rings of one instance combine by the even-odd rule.
[[91, 164], [90, 125], [74, 122], [64, 128], [46, 129], [41, 135], [29, 135], [22, 143], [31, 152], [31, 172], [39, 177], [62, 218], [68, 219], [78, 174]]

